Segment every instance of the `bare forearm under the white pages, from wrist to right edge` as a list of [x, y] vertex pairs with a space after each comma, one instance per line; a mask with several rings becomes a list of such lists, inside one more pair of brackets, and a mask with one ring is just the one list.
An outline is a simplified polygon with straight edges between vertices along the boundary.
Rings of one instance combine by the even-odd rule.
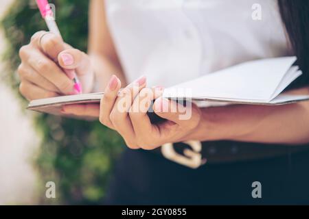
[[203, 110], [199, 130], [199, 140], [306, 144], [309, 142], [309, 102], [211, 107]]

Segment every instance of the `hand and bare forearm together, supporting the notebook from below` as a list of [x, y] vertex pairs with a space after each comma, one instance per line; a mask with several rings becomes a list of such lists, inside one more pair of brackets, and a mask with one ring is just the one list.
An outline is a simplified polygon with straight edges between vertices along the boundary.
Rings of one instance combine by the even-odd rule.
[[[260, 142], [267, 144], [308, 144], [309, 103], [308, 101], [290, 105], [229, 105], [225, 107], [208, 107], [198, 109], [183, 107], [160, 96], [161, 88], [145, 88], [146, 83], [138, 87], [138, 94], [133, 86], [128, 86], [122, 96], [117, 96], [120, 82], [113, 77], [106, 96], [99, 105], [77, 105], [65, 107], [69, 114], [94, 116], [118, 131], [133, 149], [155, 149], [168, 142], [185, 142], [187, 140], [216, 141], [233, 140], [241, 142]], [[136, 90], [136, 89], [135, 89]], [[157, 94], [152, 95], [157, 91]], [[129, 94], [133, 93], [134, 101]], [[309, 94], [308, 88], [290, 92], [291, 94]], [[137, 97], [143, 101], [137, 101]], [[159, 98], [158, 98], [159, 97]], [[156, 99], [152, 109], [155, 114], [168, 120], [154, 125], [146, 114], [150, 100]], [[128, 100], [135, 112], [119, 112], [117, 104]], [[126, 102], [126, 101], [125, 101]], [[128, 107], [126, 107], [127, 109]], [[172, 110], [171, 109], [176, 109]], [[190, 112], [190, 108], [192, 109]], [[183, 112], [189, 112], [189, 119], [181, 119]], [[296, 116], [295, 116], [296, 115]]]

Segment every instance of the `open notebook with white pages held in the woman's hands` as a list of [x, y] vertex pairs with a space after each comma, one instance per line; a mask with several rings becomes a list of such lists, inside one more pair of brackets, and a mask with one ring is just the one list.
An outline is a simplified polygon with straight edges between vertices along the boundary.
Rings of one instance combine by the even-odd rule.
[[[308, 95], [282, 91], [302, 73], [293, 66], [296, 57], [245, 62], [165, 89], [168, 99], [188, 99], [200, 107], [210, 103], [282, 105], [309, 100]], [[58, 114], [62, 105], [100, 103], [103, 93], [60, 96], [31, 101], [27, 109]]]

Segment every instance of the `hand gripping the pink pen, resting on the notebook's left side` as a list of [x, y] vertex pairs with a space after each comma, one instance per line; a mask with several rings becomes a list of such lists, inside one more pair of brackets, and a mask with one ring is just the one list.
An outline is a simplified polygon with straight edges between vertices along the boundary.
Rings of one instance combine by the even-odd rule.
[[50, 32], [38, 31], [19, 51], [19, 90], [28, 100], [78, 94], [74, 89], [76, 73], [82, 92], [93, 89], [94, 73], [89, 56]]

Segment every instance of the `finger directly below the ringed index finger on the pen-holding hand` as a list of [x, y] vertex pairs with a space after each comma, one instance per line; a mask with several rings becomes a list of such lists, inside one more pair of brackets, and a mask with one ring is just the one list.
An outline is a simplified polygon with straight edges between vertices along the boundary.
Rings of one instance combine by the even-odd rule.
[[40, 51], [32, 50], [28, 55], [27, 63], [32, 66], [37, 73], [53, 83], [62, 94], [76, 94], [76, 90], [73, 88], [73, 81], [65, 75], [56, 63], [49, 60], [49, 58]]

